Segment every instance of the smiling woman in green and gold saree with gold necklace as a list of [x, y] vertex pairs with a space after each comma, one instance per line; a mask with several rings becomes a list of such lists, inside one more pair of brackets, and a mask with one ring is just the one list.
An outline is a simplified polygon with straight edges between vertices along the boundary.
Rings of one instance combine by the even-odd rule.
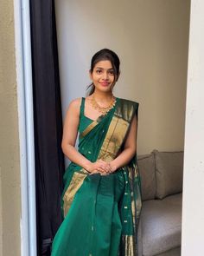
[[137, 255], [142, 207], [139, 104], [113, 95], [119, 64], [110, 49], [92, 56], [90, 94], [73, 100], [67, 109], [61, 147], [71, 163], [63, 178], [63, 222], [54, 237], [52, 256]]

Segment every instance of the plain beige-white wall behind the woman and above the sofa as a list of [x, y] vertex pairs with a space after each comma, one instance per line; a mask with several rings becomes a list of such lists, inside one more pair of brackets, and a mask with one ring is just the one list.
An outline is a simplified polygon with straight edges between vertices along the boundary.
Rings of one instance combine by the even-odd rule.
[[115, 95], [140, 103], [137, 153], [183, 149], [189, 1], [55, 5], [63, 115], [71, 99], [85, 95], [92, 55], [110, 48], [121, 59]]

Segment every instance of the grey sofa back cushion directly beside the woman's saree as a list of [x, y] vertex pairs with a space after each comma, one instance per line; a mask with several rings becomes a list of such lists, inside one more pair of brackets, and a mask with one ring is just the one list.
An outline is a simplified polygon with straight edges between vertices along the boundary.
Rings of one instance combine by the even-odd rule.
[[137, 156], [138, 170], [141, 177], [142, 200], [155, 199], [156, 196], [156, 174], [154, 154], [143, 154]]

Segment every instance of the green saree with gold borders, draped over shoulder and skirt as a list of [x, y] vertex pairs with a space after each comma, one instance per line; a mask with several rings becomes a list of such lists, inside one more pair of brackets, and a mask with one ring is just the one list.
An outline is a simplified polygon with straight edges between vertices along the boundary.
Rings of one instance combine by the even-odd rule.
[[[80, 133], [80, 154], [92, 162], [115, 159], [124, 148], [133, 116], [138, 120], [138, 105], [117, 98], [108, 114]], [[71, 162], [63, 179], [63, 221], [51, 256], [137, 256], [142, 208], [137, 153], [128, 165], [108, 175], [90, 175]]]

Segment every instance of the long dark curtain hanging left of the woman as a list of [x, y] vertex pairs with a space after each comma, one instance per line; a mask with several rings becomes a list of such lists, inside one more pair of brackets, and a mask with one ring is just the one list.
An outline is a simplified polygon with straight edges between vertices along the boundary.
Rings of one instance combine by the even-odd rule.
[[31, 0], [37, 255], [50, 255], [61, 225], [64, 156], [54, 1]]

